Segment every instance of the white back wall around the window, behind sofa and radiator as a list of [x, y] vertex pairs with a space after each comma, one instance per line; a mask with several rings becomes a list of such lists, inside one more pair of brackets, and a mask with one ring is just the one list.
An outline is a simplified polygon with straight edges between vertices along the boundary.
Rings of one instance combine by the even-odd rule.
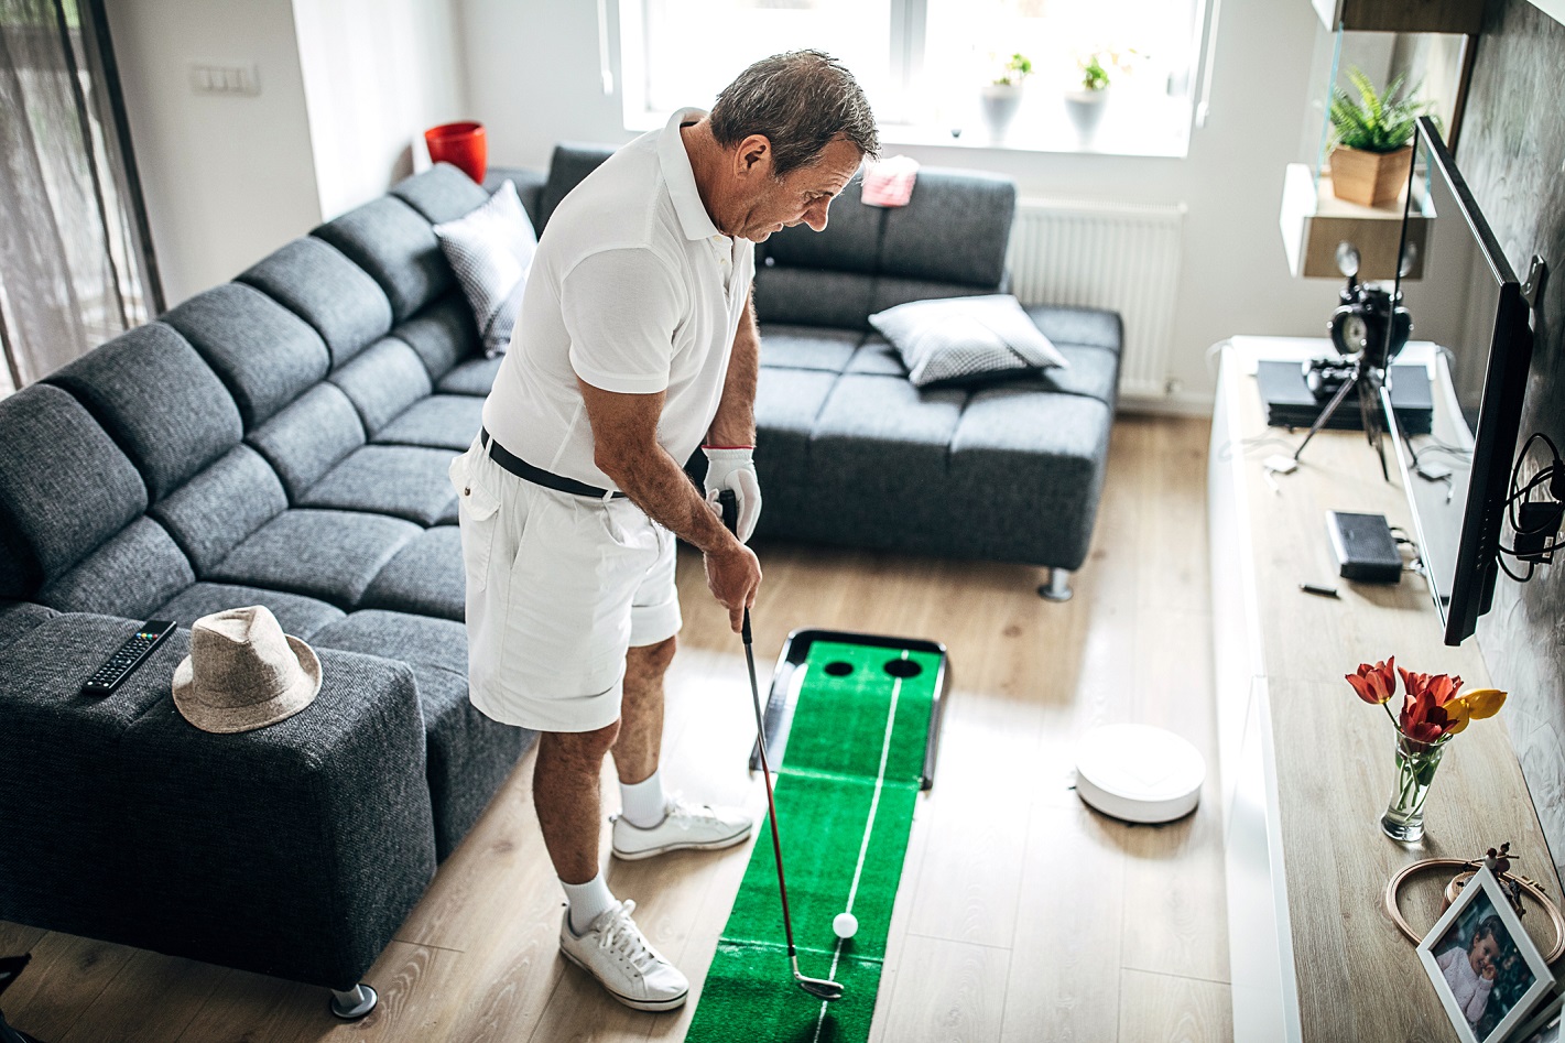
[[[606, 97], [599, 83], [595, 3], [459, 2], [468, 99], [473, 117], [487, 125], [490, 163], [545, 168], [557, 141], [631, 139], [618, 97]], [[1210, 345], [1232, 334], [1324, 335], [1337, 307], [1332, 280], [1288, 274], [1277, 229], [1283, 169], [1301, 158], [1319, 25], [1307, 0], [1224, 0], [1211, 113], [1193, 132], [1185, 160], [911, 146], [889, 152], [1008, 174], [1024, 196], [1185, 202], [1172, 373], [1182, 385], [1175, 401], [1203, 407], [1214, 387], [1205, 363]]]

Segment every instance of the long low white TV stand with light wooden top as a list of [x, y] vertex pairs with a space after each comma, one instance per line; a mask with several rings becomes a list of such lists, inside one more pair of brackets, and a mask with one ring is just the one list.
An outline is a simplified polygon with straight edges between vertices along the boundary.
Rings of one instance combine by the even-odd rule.
[[[1326, 340], [1235, 337], [1222, 351], [1213, 413], [1208, 525], [1233, 1038], [1454, 1038], [1413, 946], [1380, 908], [1387, 880], [1419, 858], [1473, 858], [1502, 841], [1556, 899], [1559, 879], [1506, 711], [1451, 742], [1423, 844], [1380, 833], [1394, 733], [1343, 675], [1391, 655], [1418, 672], [1460, 673], [1468, 688], [1487, 684], [1488, 672], [1476, 641], [1443, 644], [1421, 576], [1396, 586], [1337, 576], [1329, 509], [1412, 523], [1399, 475], [1382, 478], [1362, 432], [1321, 431], [1297, 471], [1272, 478], [1277, 492], [1263, 478], [1260, 462], [1290, 453], [1297, 435], [1265, 426], [1254, 362], [1329, 351]], [[1435, 392], [1438, 410], [1446, 395]], [[1301, 583], [1335, 586], [1340, 598], [1301, 592]], [[1426, 875], [1402, 904], [1419, 927], [1434, 924], [1444, 885]], [[1546, 951], [1548, 918], [1523, 922]]]

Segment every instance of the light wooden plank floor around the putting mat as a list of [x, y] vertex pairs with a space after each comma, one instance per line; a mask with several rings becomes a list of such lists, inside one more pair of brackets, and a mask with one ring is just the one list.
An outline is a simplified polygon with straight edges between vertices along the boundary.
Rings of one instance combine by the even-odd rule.
[[[1033, 568], [757, 548], [756, 647], [767, 659], [801, 626], [950, 650], [939, 772], [914, 817], [872, 1040], [1232, 1038], [1207, 434], [1200, 421], [1117, 423], [1092, 556], [1066, 605], [1033, 594]], [[743, 766], [753, 716], [742, 647], [700, 561], [681, 561], [679, 586], [685, 630], [664, 774], [687, 794], [761, 808], [761, 781]], [[1125, 720], [1172, 728], [1207, 755], [1213, 772], [1194, 816], [1127, 827], [1077, 800], [1072, 741]], [[382, 1001], [357, 1024], [327, 1013], [324, 990], [0, 922], [0, 954], [34, 957], [3, 1009], [47, 1043], [684, 1038], [690, 1007], [626, 1010], [557, 955], [562, 897], [531, 772], [529, 755], [369, 971]], [[610, 886], [635, 899], [642, 927], [696, 990], [748, 854], [610, 863]], [[811, 857], [804, 846], [786, 855]], [[792, 988], [782, 968], [778, 988]]]

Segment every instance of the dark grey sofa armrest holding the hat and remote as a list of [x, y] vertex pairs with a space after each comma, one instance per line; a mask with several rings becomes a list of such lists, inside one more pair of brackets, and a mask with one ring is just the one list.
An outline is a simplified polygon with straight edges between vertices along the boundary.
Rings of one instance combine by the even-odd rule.
[[310, 706], [211, 734], [171, 697], [186, 630], [80, 694], [135, 630], [63, 614], [0, 650], [0, 919], [352, 987], [435, 871], [412, 670], [321, 650]]

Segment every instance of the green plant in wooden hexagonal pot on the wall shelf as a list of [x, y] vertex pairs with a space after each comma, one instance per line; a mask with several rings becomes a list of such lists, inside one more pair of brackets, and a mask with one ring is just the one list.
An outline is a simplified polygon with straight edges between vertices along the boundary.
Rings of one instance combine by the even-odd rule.
[[1362, 69], [1349, 69], [1347, 80], [1358, 100], [1343, 88], [1332, 91], [1332, 194], [1379, 207], [1396, 200], [1407, 183], [1415, 124], [1429, 103], [1415, 100], [1416, 88], [1402, 91], [1402, 77], [1391, 80], [1385, 94], [1376, 92]]

